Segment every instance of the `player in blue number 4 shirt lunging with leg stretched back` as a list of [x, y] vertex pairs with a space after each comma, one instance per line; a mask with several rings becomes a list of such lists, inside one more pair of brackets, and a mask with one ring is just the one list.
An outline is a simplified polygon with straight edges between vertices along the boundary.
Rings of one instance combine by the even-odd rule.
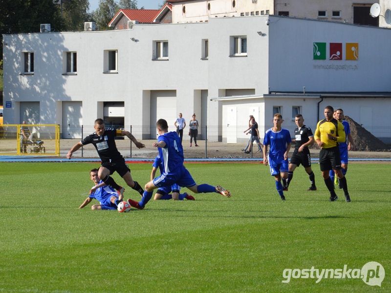
[[217, 192], [226, 197], [231, 197], [231, 193], [221, 186], [211, 186], [208, 184], [197, 185], [189, 171], [183, 166], [183, 148], [179, 136], [176, 132], [168, 131], [167, 121], [159, 119], [156, 122], [159, 137], [157, 143], [152, 146], [159, 150], [160, 159], [163, 162], [163, 173], [145, 185], [143, 198], [140, 202], [128, 199], [130, 206], [136, 209], [144, 209], [145, 205], [152, 198], [153, 189], [171, 187], [177, 184], [186, 187], [194, 193]]

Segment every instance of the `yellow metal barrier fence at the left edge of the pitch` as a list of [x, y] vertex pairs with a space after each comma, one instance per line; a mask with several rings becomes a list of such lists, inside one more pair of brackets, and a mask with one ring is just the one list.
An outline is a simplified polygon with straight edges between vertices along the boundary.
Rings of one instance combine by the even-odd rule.
[[60, 156], [60, 126], [5, 124], [0, 126], [0, 155]]

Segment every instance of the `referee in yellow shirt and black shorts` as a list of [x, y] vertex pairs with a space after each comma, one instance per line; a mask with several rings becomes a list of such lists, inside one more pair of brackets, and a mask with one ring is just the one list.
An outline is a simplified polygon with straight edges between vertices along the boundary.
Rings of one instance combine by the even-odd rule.
[[346, 178], [341, 171], [341, 155], [339, 151], [339, 143], [343, 143], [346, 140], [345, 128], [341, 122], [333, 118], [333, 113], [333, 107], [326, 106], [326, 119], [318, 122], [314, 138], [321, 148], [319, 164], [326, 187], [330, 191], [330, 201], [338, 199], [334, 191], [334, 183], [329, 176], [329, 171], [333, 170], [340, 181], [342, 189], [344, 189], [346, 201], [350, 202]]

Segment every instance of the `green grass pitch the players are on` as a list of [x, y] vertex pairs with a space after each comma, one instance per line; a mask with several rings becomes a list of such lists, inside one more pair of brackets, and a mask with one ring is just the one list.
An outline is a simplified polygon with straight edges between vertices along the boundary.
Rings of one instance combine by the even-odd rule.
[[[141, 185], [152, 164], [130, 164]], [[0, 163], [0, 293], [390, 292], [387, 164], [349, 164], [351, 203], [328, 202], [296, 169], [282, 202], [261, 164], [186, 164], [198, 184], [231, 191], [151, 201], [129, 213], [77, 209], [90, 163]], [[124, 184], [118, 174], [114, 179]], [[191, 192], [190, 192], [191, 193]], [[126, 188], [125, 199], [139, 200]], [[381, 287], [357, 278], [291, 278], [284, 269], [385, 269]]]

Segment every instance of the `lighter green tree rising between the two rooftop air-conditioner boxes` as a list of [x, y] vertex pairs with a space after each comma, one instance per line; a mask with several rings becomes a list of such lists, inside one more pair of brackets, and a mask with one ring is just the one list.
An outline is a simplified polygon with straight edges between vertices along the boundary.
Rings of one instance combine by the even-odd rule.
[[[59, 5], [61, 10], [61, 6]], [[88, 0], [72, 0], [63, 3], [63, 22], [65, 30], [83, 30], [84, 22], [92, 21], [92, 15], [88, 13]]]

